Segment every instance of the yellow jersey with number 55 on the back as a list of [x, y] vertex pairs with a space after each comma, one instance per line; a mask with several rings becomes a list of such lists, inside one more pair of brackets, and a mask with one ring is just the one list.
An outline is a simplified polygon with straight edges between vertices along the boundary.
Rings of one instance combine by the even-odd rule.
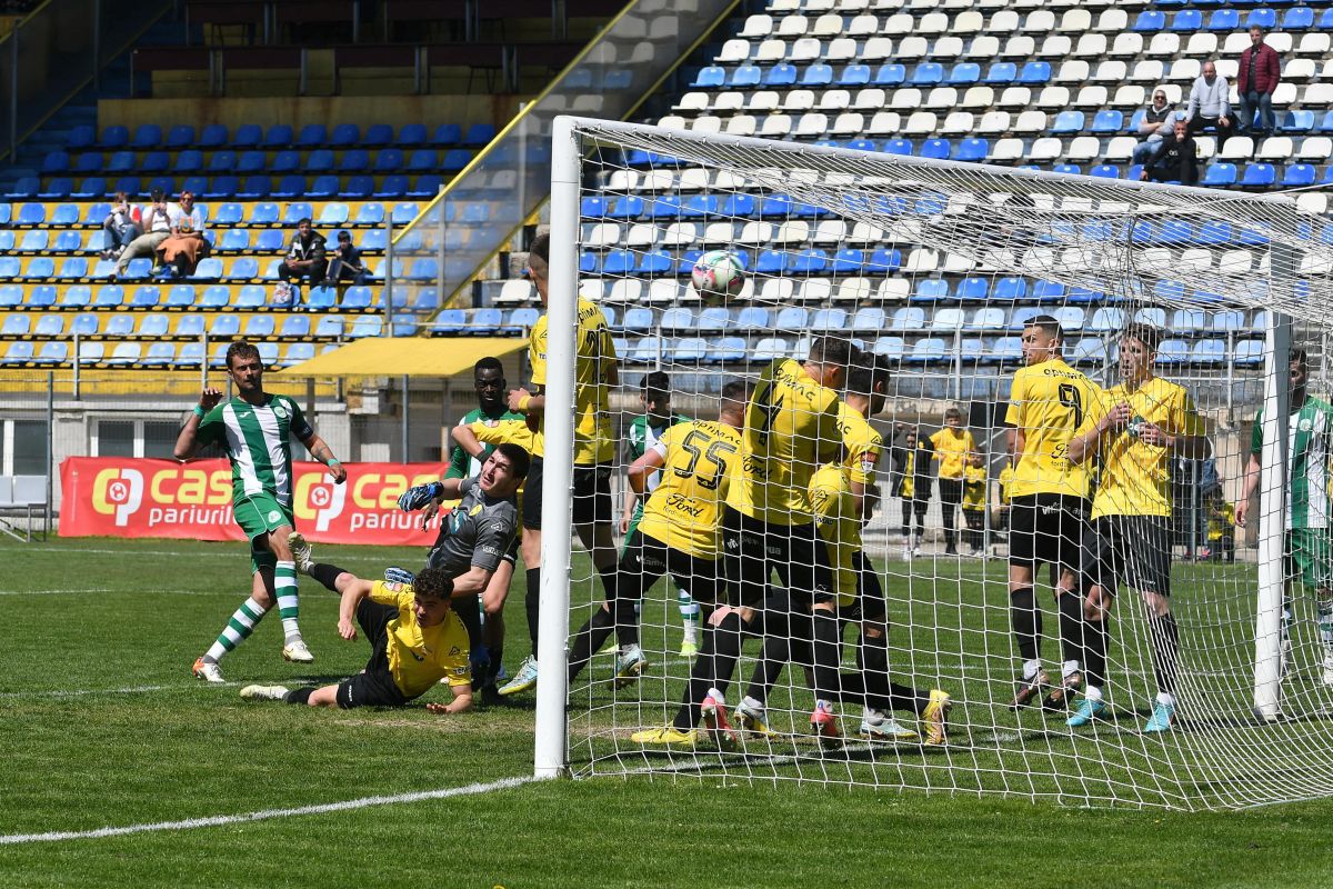
[[677, 423], [649, 450], [663, 458], [657, 488], [644, 505], [639, 530], [698, 558], [721, 553], [722, 502], [741, 449], [725, 423]]

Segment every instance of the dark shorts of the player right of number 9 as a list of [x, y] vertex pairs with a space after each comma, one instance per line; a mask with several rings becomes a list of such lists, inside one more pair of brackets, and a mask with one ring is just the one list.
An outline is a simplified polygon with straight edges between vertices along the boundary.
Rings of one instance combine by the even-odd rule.
[[1078, 564], [1086, 586], [1116, 594], [1120, 580], [1132, 589], [1170, 596], [1170, 518], [1101, 516], [1084, 534]]

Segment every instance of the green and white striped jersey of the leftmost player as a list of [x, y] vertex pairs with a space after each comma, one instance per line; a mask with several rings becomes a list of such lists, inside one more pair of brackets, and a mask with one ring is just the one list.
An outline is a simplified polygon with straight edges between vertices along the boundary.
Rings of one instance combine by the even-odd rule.
[[291, 506], [291, 439], [305, 441], [313, 435], [295, 401], [285, 395], [265, 395], [260, 407], [239, 397], [219, 404], [200, 421], [196, 440], [227, 450], [232, 461], [233, 504], [267, 492]]

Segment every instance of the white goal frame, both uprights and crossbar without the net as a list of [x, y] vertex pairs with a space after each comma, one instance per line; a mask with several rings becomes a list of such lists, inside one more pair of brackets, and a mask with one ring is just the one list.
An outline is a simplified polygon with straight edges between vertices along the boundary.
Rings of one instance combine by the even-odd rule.
[[[552, 128], [552, 192], [551, 192], [551, 269], [548, 304], [548, 355], [547, 355], [547, 413], [545, 413], [545, 461], [543, 469], [543, 548], [541, 548], [541, 613], [536, 720], [536, 768], [541, 778], [569, 774], [569, 737], [567, 696], [567, 642], [569, 638], [569, 585], [571, 585], [571, 478], [573, 473], [573, 380], [575, 380], [575, 328], [579, 293], [579, 236], [580, 197], [583, 184], [583, 164], [587, 149], [601, 136], [608, 145], [619, 144], [616, 137], [624, 137], [631, 144], [660, 141], [661, 152], [669, 155], [681, 141], [700, 147], [733, 147], [752, 152], [749, 160], [762, 156], [765, 165], [781, 168], [784, 159], [788, 165], [801, 167], [801, 159], [821, 159], [821, 169], [833, 175], [834, 169], [850, 171], [866, 163], [890, 165], [885, 173], [913, 181], [905, 169], [920, 171], [922, 179], [917, 185], [929, 188], [932, 176], [942, 172], [957, 173], [960, 181], [978, 175], [1002, 175], [1016, 185], [1026, 184], [1029, 193], [1056, 195], [1076, 193], [1074, 185], [1086, 189], [1089, 195], [1112, 192], [1114, 200], [1149, 201], [1158, 197], [1164, 211], [1182, 209], [1181, 197], [1208, 207], [1228, 200], [1250, 203], [1254, 216], [1261, 212], [1273, 213], [1278, 219], [1281, 211], [1290, 212], [1296, 201], [1282, 195], [1220, 193], [1212, 189], [1157, 183], [1130, 183], [1089, 176], [1070, 176], [1046, 171], [993, 168], [949, 160], [922, 157], [902, 159], [876, 155], [864, 151], [830, 145], [808, 145], [784, 143], [728, 133], [693, 133], [682, 129], [628, 124], [621, 121], [597, 120], [575, 116], [560, 116]], [[798, 153], [797, 153], [798, 152]], [[706, 155], [696, 159], [700, 165], [708, 165]], [[741, 165], [744, 167], [744, 165]], [[745, 169], [757, 169], [750, 164]], [[885, 175], [878, 173], [878, 175]], [[872, 173], [876, 175], [876, 173]], [[800, 187], [793, 180], [792, 185]], [[873, 183], [872, 183], [873, 187]], [[776, 188], [776, 187], [774, 187]], [[794, 192], [794, 189], [793, 189]], [[1174, 200], [1173, 200], [1174, 199]], [[1105, 197], [1105, 200], [1112, 200]], [[1270, 211], [1257, 211], [1254, 205], [1265, 205]], [[846, 219], [857, 219], [854, 208], [828, 203], [825, 207], [840, 212]], [[1254, 219], [1256, 224], [1262, 219]], [[1273, 240], [1270, 279], [1274, 296], [1294, 299], [1294, 279], [1297, 275], [1297, 249], [1281, 239]], [[1130, 244], [1130, 249], [1133, 245]], [[1032, 276], [1034, 272], [1016, 269], [1012, 273]], [[1285, 468], [1288, 441], [1288, 393], [1286, 349], [1292, 341], [1292, 316], [1280, 311], [1282, 299], [1272, 305], [1265, 331], [1265, 391], [1264, 391], [1264, 450], [1261, 465], [1264, 478], [1281, 478], [1282, 484], [1266, 484], [1260, 492], [1260, 541], [1258, 541], [1258, 590], [1256, 593], [1254, 620], [1254, 662], [1253, 662], [1253, 713], [1264, 721], [1276, 720], [1280, 713], [1281, 697], [1281, 613], [1284, 601], [1282, 544], [1285, 530]]]

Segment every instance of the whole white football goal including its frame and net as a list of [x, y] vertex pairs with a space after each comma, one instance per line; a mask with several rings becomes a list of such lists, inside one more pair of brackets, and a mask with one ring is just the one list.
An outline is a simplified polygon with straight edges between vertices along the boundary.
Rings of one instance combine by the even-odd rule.
[[[539, 770], [1333, 793], [1322, 216], [593, 120], [555, 139]], [[716, 251], [738, 291], [692, 283]], [[575, 389], [612, 380], [576, 295], [619, 373], [601, 577], [559, 514], [591, 490]]]

